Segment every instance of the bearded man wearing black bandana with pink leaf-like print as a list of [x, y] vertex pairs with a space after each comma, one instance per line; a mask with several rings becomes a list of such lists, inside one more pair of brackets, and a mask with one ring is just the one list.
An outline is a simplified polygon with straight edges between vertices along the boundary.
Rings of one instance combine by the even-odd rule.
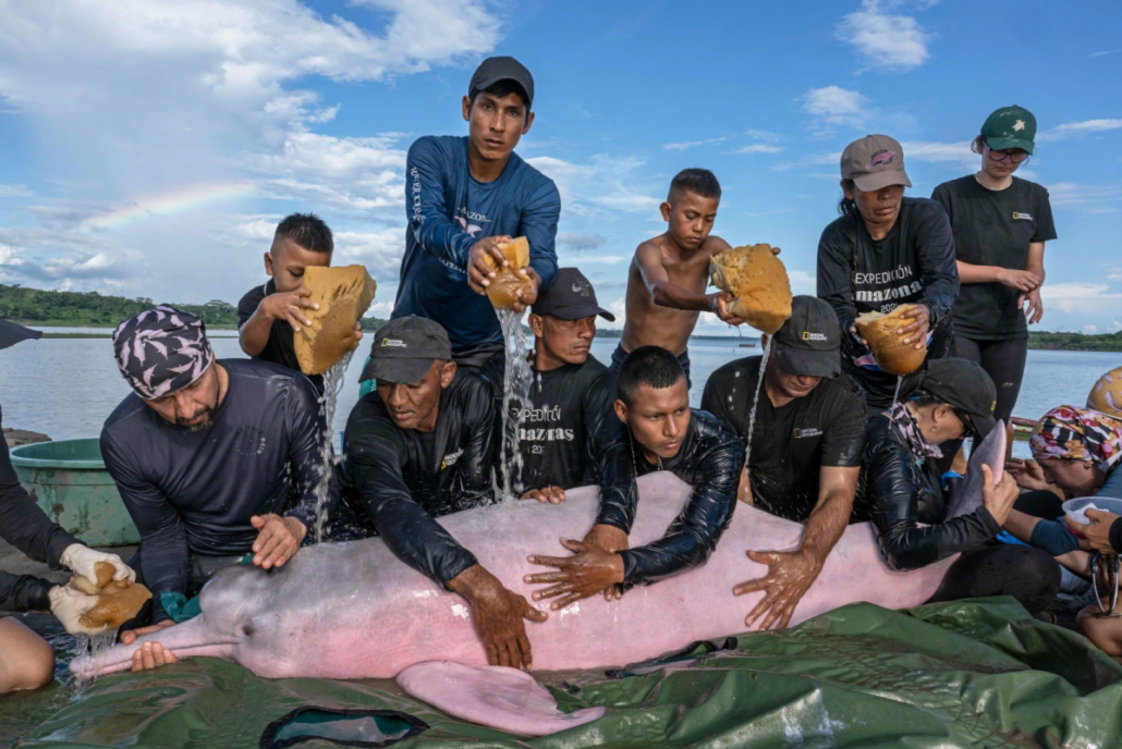
[[[113, 333], [130, 394], [105, 420], [101, 453], [140, 530], [130, 565], [153, 592], [153, 626], [172, 625], [162, 594], [196, 594], [247, 554], [283, 565], [330, 489], [324, 423], [300, 372], [264, 361], [218, 361], [203, 322], [159, 305]], [[151, 650], [157, 650], [154, 654]], [[174, 660], [158, 647], [134, 667]]]

